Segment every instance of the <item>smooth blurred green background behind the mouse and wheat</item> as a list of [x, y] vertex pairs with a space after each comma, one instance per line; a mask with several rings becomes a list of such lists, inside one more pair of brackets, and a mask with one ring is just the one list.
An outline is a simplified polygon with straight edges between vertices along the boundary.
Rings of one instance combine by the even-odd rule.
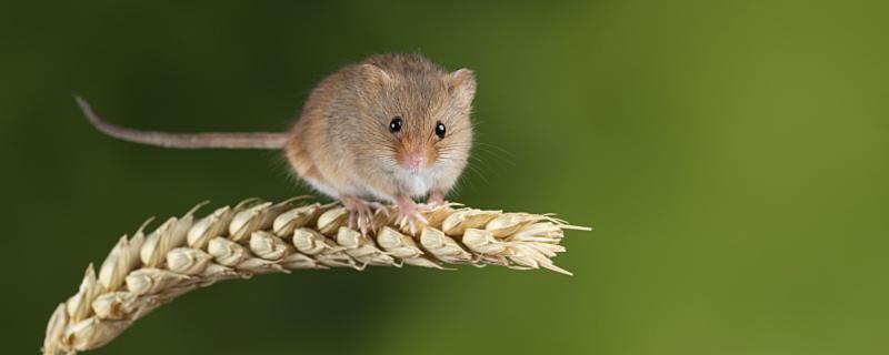
[[[96, 132], [283, 130], [377, 52], [478, 78], [453, 200], [557, 212], [572, 271], [232, 281], [93, 354], [886, 354], [885, 1], [4, 2], [2, 352], [148, 216], [303, 194], [278, 153]], [[209, 211], [209, 210], [204, 210]]]

